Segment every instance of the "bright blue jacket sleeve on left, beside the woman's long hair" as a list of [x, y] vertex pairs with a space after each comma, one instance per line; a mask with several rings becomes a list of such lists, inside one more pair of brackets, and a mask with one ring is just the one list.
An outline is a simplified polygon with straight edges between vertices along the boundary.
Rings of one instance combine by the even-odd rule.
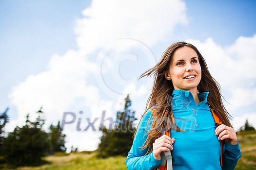
[[141, 119], [137, 132], [134, 137], [133, 145], [129, 151], [127, 158], [125, 160], [128, 170], [153, 170], [161, 164], [161, 160], [156, 160], [153, 156], [153, 152], [146, 154], [146, 150], [141, 150], [147, 135], [146, 133], [151, 127], [152, 119], [150, 116], [152, 114], [151, 109], [149, 109]]

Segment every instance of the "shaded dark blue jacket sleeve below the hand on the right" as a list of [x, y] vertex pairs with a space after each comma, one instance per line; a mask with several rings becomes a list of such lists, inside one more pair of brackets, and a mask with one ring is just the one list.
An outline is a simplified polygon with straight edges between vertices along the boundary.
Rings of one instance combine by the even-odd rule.
[[234, 170], [238, 159], [242, 156], [239, 143], [232, 145], [224, 142], [222, 170]]

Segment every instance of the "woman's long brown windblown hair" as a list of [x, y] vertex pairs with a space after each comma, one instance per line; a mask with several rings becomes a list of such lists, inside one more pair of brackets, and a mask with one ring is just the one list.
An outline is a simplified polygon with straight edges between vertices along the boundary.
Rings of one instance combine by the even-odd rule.
[[[169, 70], [170, 61], [173, 53], [180, 47], [189, 47], [197, 52], [199, 58], [199, 64], [201, 67], [201, 81], [197, 85], [197, 91], [199, 93], [209, 92], [207, 102], [216, 111], [216, 114], [220, 118], [223, 124], [232, 127], [230, 120], [232, 117], [225, 109], [220, 93], [220, 85], [211, 76], [206, 62], [200, 52], [195, 46], [186, 42], [176, 42], [168, 47], [162, 54], [161, 59], [153, 68], [146, 70], [139, 77], [148, 77], [154, 75], [154, 85], [152, 92], [147, 100], [145, 112], [152, 108], [153, 122], [149, 132], [147, 133], [147, 138], [142, 146], [142, 149], [148, 149], [147, 153], [152, 152], [152, 145], [158, 136], [161, 136], [162, 131], [174, 129], [178, 132], [183, 132], [182, 129], [177, 127], [174, 120], [172, 111], [172, 93], [174, 86], [172, 81], [165, 78], [165, 71]], [[145, 113], [144, 113], [145, 114]], [[143, 115], [144, 116], [144, 115]]]

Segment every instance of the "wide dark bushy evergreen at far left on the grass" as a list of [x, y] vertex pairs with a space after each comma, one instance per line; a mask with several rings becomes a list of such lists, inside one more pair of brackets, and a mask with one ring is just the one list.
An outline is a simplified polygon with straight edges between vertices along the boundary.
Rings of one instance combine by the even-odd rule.
[[3, 156], [8, 164], [24, 166], [38, 165], [41, 157], [49, 150], [48, 134], [42, 130], [44, 119], [41, 119], [41, 109], [35, 122], [29, 120], [26, 124], [16, 127], [9, 133], [2, 145]]

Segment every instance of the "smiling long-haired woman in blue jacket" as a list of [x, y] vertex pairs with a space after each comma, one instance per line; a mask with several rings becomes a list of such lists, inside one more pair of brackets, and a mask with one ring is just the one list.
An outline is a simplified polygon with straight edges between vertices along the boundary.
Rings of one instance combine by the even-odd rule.
[[[128, 170], [153, 170], [161, 163], [160, 153], [170, 150], [174, 170], [235, 169], [241, 153], [231, 116], [197, 48], [174, 43], [140, 78], [152, 74], [153, 90], [125, 161]], [[217, 128], [209, 105], [223, 123]], [[172, 138], [161, 136], [169, 130]], [[222, 167], [219, 140], [224, 141]]]

